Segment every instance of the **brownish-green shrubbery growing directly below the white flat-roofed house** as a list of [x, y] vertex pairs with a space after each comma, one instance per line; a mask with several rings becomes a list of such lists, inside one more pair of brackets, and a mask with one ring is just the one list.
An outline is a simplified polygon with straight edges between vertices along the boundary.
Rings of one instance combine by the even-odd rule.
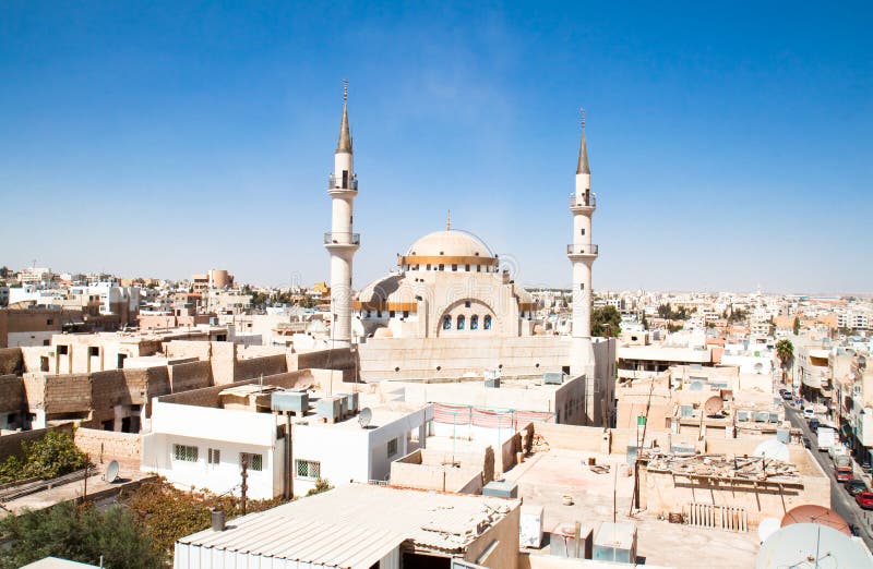
[[[148, 482], [120, 496], [137, 526], [155, 546], [169, 554], [176, 540], [205, 530], [212, 524], [212, 509], [222, 509], [228, 519], [242, 513], [240, 499], [211, 493], [183, 492], [164, 481]], [[246, 511], [252, 513], [278, 506], [284, 500], [248, 500]]]

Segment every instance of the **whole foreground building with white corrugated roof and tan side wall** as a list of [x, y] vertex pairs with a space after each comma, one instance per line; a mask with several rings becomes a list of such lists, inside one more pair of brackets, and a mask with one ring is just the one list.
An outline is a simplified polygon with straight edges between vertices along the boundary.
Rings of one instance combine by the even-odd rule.
[[182, 537], [174, 567], [449, 569], [455, 559], [516, 569], [519, 507], [514, 499], [352, 484]]

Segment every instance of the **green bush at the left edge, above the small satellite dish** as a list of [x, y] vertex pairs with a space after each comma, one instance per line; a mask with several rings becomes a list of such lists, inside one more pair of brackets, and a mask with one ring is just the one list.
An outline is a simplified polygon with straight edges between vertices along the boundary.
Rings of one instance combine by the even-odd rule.
[[24, 460], [7, 458], [0, 464], [0, 483], [25, 479], [55, 479], [84, 469], [87, 457], [79, 450], [68, 433], [48, 431], [33, 443], [22, 443]]

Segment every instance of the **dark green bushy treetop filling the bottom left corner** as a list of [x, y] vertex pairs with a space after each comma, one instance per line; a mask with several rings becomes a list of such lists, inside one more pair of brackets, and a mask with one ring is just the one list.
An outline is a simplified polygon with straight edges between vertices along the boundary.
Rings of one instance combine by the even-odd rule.
[[122, 507], [105, 512], [93, 505], [61, 503], [53, 508], [24, 511], [0, 521], [9, 547], [0, 556], [0, 569], [14, 569], [44, 557], [56, 556], [112, 569], [154, 569], [165, 557], [142, 535]]

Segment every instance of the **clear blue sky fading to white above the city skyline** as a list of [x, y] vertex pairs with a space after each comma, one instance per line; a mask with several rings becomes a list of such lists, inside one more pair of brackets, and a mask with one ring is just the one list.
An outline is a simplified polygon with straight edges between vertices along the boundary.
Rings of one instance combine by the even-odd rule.
[[871, 5], [7, 1], [0, 264], [326, 279], [347, 77], [356, 286], [450, 208], [567, 286], [584, 106], [596, 289], [871, 292]]

